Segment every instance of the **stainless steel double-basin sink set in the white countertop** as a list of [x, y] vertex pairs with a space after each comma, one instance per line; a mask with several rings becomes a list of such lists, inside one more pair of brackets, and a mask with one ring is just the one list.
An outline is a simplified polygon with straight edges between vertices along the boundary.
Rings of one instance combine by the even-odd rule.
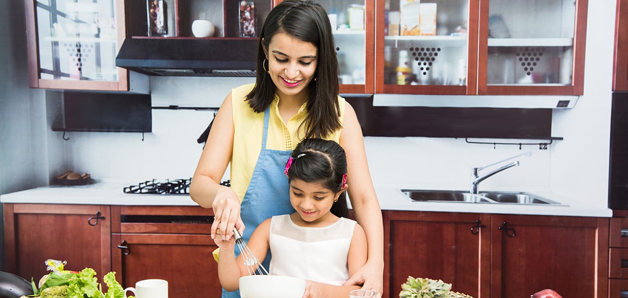
[[482, 191], [472, 194], [469, 191], [401, 189], [401, 193], [412, 201], [567, 206], [536, 194], [512, 191]]

